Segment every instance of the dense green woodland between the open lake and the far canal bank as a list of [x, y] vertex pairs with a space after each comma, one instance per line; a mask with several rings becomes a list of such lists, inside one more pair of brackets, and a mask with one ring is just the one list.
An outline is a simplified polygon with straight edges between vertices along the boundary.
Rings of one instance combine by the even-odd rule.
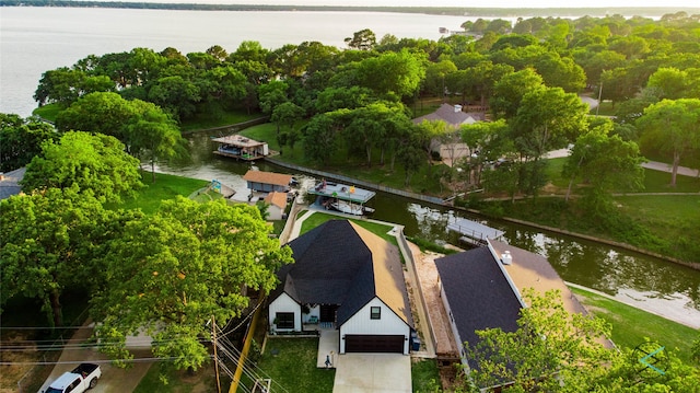
[[[306, 158], [320, 165], [347, 152], [348, 158], [364, 157], [368, 166], [388, 163], [393, 172], [398, 164], [406, 185], [424, 165], [432, 176], [436, 141], [462, 137], [479, 154], [441, 170], [444, 182], [463, 181], [468, 188], [485, 187], [512, 197], [536, 196], [548, 182], [541, 159], [550, 150], [591, 146], [593, 140], [608, 147], [621, 143], [617, 151], [627, 154], [626, 164], [608, 172], [633, 178], [623, 183], [638, 189], [642, 172], [632, 167], [641, 153], [667, 154], [674, 165], [672, 184], [681, 160], [700, 160], [699, 131], [692, 126], [700, 116], [695, 109], [700, 100], [698, 26], [700, 18], [682, 11], [658, 21], [536, 16], [512, 25], [501, 19], [479, 19], [465, 22], [462, 34], [436, 42], [392, 35], [377, 39], [372, 31], [362, 30], [346, 39], [345, 50], [318, 42], [278, 49], [244, 42], [231, 54], [217, 45], [187, 55], [175, 48], [160, 53], [135, 48], [47, 71], [35, 99], [39, 104], [92, 111], [89, 97], [98, 108], [121, 102], [120, 96], [153, 103], [176, 122], [228, 111], [257, 112], [277, 124], [281, 146], [301, 143]], [[611, 123], [591, 119], [587, 106], [576, 97], [584, 91], [612, 103]], [[100, 99], [93, 95], [100, 92]], [[502, 123], [460, 131], [445, 125], [412, 125], [411, 104], [430, 95], [450, 95], [462, 104], [488, 108], [493, 120]], [[674, 105], [685, 105], [684, 118], [681, 112], [667, 111]], [[65, 111], [59, 128], [83, 126], [77, 118], [84, 111]], [[586, 137], [588, 132], [597, 137]], [[588, 189], [596, 192], [586, 196], [596, 210], [609, 201], [610, 187], [603, 184], [620, 183], [590, 182], [602, 178], [610, 164], [593, 157], [606, 149], [579, 147], [571, 160], [580, 162], [569, 163], [565, 173], [572, 184], [583, 181], [593, 186]], [[161, 152], [174, 154], [176, 149]], [[506, 164], [494, 170], [495, 162]], [[456, 172], [457, 167], [464, 171]]]

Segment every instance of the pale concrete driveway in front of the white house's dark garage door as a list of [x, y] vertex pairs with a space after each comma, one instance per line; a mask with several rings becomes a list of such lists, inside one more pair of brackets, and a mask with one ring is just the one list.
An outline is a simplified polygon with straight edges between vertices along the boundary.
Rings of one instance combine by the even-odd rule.
[[398, 354], [337, 356], [332, 393], [410, 393], [411, 357]]

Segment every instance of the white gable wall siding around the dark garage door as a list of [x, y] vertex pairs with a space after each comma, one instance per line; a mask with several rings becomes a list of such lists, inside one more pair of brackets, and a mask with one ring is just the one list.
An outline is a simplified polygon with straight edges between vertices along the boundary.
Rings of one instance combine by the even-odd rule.
[[[370, 319], [372, 307], [382, 308], [382, 317], [380, 320]], [[404, 320], [398, 317], [382, 300], [374, 298], [340, 326], [340, 354], [346, 352], [346, 343], [342, 340], [342, 336], [347, 334], [404, 335], [404, 337], [410, 338], [411, 332]], [[406, 339], [404, 355], [408, 354], [409, 344], [409, 339]]]

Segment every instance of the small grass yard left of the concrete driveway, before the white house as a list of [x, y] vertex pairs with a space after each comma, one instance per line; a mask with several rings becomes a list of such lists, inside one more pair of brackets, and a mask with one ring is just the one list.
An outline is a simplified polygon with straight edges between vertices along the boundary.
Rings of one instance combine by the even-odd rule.
[[258, 373], [272, 379], [276, 392], [332, 392], [336, 370], [316, 368], [317, 351], [318, 338], [268, 338]]

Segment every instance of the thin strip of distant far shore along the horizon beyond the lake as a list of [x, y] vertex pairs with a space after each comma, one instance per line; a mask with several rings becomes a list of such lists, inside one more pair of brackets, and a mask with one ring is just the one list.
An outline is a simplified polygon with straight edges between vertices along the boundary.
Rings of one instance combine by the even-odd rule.
[[497, 18], [579, 18], [579, 16], [662, 16], [676, 12], [700, 14], [700, 8], [689, 7], [610, 7], [610, 8], [474, 8], [474, 7], [350, 7], [350, 5], [255, 5], [255, 4], [185, 4], [125, 1], [71, 0], [0, 0], [0, 7], [57, 7], [57, 8], [121, 8], [140, 10], [192, 11], [335, 11], [335, 12], [402, 12], [460, 16]]

